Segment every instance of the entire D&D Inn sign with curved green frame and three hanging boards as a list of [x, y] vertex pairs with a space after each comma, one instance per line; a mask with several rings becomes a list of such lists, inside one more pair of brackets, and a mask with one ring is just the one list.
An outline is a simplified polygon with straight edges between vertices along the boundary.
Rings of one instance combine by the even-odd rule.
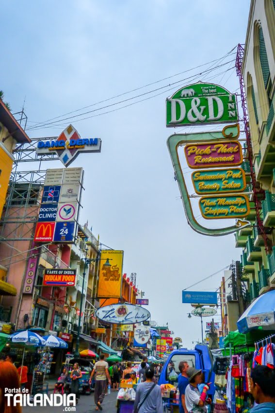
[[[203, 235], [226, 235], [250, 225], [241, 219], [249, 214], [249, 200], [242, 193], [246, 189], [244, 171], [237, 168], [243, 163], [237, 122], [236, 95], [218, 85], [198, 82], [179, 89], [166, 100], [167, 127], [231, 123], [219, 132], [174, 134], [167, 140], [188, 223]], [[194, 170], [191, 180], [198, 198], [201, 195], [198, 205], [202, 217], [207, 220], [234, 218], [236, 224], [210, 229], [196, 221], [181, 168], [183, 156], [188, 167]]]

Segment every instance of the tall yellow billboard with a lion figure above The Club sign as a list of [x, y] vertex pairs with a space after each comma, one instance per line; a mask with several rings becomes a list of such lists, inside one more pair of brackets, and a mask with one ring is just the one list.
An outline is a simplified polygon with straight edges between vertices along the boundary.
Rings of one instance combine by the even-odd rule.
[[120, 298], [123, 251], [102, 250], [98, 281], [98, 298]]

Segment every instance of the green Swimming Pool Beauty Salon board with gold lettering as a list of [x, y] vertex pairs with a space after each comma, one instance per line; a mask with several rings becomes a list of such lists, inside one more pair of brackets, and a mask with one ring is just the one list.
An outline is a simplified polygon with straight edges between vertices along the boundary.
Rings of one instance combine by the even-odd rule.
[[195, 171], [192, 173], [194, 190], [198, 194], [242, 192], [245, 173], [241, 168]]

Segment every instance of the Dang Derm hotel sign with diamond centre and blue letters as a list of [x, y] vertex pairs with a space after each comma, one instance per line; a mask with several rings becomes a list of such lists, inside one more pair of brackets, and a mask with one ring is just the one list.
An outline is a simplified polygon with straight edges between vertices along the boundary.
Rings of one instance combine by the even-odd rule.
[[81, 138], [78, 131], [69, 125], [55, 140], [39, 140], [37, 142], [37, 155], [56, 154], [65, 167], [79, 155], [80, 152], [100, 152], [101, 139]]

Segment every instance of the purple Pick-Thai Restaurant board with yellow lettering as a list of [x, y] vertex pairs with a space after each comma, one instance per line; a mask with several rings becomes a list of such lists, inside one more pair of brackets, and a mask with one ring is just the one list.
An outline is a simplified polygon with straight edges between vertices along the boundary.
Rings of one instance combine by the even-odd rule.
[[240, 165], [243, 162], [242, 146], [238, 141], [192, 143], [184, 148], [190, 168], [219, 168]]

